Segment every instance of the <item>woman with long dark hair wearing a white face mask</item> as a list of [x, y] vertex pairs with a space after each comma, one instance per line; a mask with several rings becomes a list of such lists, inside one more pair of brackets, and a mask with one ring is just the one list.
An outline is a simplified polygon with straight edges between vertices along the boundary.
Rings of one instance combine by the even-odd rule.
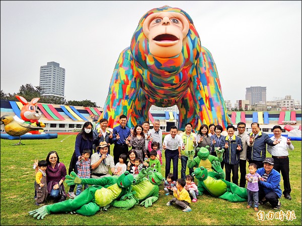
[[[93, 145], [93, 131], [92, 131], [92, 123], [86, 122], [83, 125], [82, 131], [77, 135], [77, 138], [75, 138], [75, 145], [74, 145], [74, 152], [70, 160], [68, 174], [71, 173], [71, 171], [74, 171], [78, 174], [78, 168], [75, 163], [80, 159], [80, 157], [83, 154], [84, 149], [90, 149], [92, 152], [92, 145]], [[69, 192], [67, 196], [69, 198], [74, 198], [75, 194], [73, 192], [75, 185], [70, 185]]]

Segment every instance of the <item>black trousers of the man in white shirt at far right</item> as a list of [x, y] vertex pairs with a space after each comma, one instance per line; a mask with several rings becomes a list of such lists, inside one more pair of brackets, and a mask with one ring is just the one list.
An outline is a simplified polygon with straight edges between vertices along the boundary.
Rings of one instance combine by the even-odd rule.
[[281, 171], [283, 178], [284, 186], [284, 195], [289, 195], [291, 192], [290, 183], [289, 183], [289, 158], [278, 159], [273, 156], [274, 159], [274, 170], [277, 170], [279, 173]]

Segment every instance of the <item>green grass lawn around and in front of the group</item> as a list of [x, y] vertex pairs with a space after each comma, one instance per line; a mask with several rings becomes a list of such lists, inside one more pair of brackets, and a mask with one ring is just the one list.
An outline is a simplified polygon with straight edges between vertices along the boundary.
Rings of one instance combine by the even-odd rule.
[[[61, 140], [65, 139], [63, 142]], [[74, 150], [75, 135], [58, 135], [50, 140], [23, 140], [23, 146], [13, 146], [18, 140], [1, 140], [1, 225], [301, 225], [301, 142], [293, 141], [294, 151], [290, 151], [290, 183], [292, 200], [281, 197], [281, 210], [294, 211], [296, 219], [267, 219], [257, 217], [257, 212], [247, 209], [247, 202], [232, 203], [207, 194], [198, 196], [191, 203], [192, 212], [182, 212], [176, 206], [166, 206], [172, 196], [166, 196], [163, 185], [160, 197], [153, 206], [134, 206], [129, 210], [110, 207], [108, 212], [98, 212], [94, 216], [79, 214], [50, 214], [37, 220], [28, 211], [37, 209], [34, 196], [34, 159], [45, 159], [48, 152], [58, 152], [60, 162], [67, 172]], [[113, 148], [111, 147], [111, 150]], [[267, 156], [270, 155], [267, 153]], [[162, 174], [165, 174], [165, 154]], [[179, 161], [179, 176], [180, 176]], [[171, 167], [172, 171], [172, 167]], [[187, 170], [188, 173], [188, 170]], [[282, 178], [282, 177], [281, 177]], [[68, 186], [64, 182], [65, 189]], [[281, 179], [283, 191], [283, 181]], [[269, 204], [260, 205], [265, 214], [278, 212]]]

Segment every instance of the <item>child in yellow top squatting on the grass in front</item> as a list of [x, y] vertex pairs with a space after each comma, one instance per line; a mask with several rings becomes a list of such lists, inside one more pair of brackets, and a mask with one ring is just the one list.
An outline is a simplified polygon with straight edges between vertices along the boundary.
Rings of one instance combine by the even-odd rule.
[[167, 205], [170, 206], [174, 202], [176, 205], [179, 205], [183, 208], [183, 212], [190, 212], [192, 209], [190, 208], [191, 198], [189, 192], [184, 188], [186, 185], [186, 181], [183, 178], [179, 178], [176, 181], [176, 187], [173, 190], [174, 198], [172, 198]]

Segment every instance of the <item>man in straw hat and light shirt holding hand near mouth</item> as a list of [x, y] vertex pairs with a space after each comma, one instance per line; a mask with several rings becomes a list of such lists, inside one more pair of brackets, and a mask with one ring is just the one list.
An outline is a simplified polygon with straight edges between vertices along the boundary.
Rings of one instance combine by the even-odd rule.
[[91, 178], [111, 176], [109, 168], [112, 174], [115, 174], [114, 161], [113, 157], [108, 154], [108, 146], [106, 141], [102, 141], [97, 147], [97, 152], [91, 156]]

